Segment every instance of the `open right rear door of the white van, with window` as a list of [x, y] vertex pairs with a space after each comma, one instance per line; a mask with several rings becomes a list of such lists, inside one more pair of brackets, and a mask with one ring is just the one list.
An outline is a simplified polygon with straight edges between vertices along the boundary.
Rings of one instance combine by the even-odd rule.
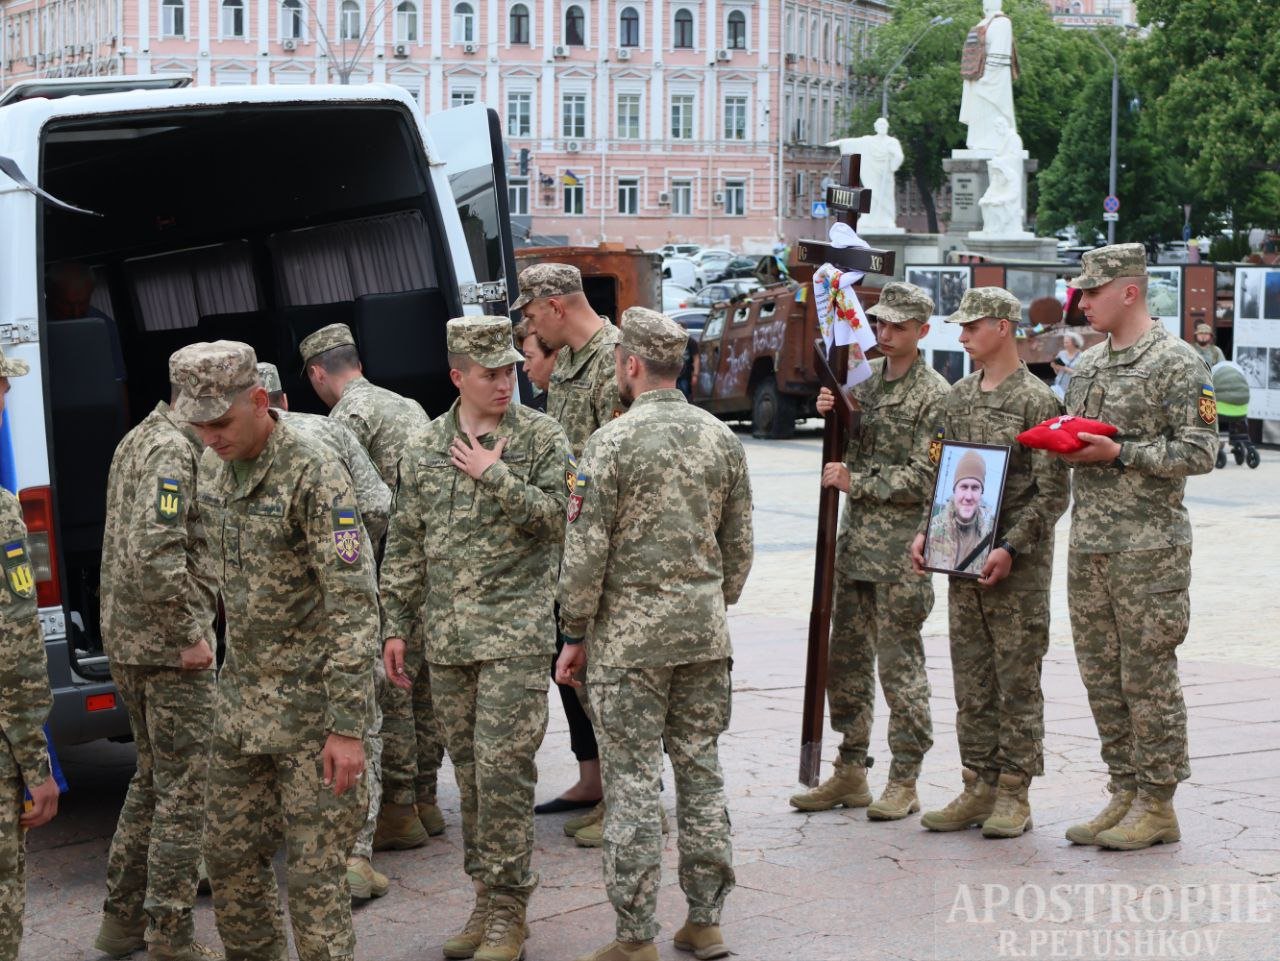
[[[507, 147], [498, 114], [480, 104], [426, 118], [431, 146], [444, 160], [476, 283], [458, 293], [465, 306], [506, 314], [516, 299], [516, 251], [507, 206]], [[484, 131], [483, 136], [477, 136]], [[442, 198], [443, 202], [443, 198]]]

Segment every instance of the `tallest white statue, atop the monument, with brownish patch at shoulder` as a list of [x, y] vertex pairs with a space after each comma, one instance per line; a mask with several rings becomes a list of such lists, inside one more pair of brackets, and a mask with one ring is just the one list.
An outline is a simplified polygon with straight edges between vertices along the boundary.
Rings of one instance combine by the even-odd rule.
[[1014, 118], [1018, 51], [1014, 49], [1014, 24], [1001, 13], [1000, 0], [982, 0], [982, 20], [964, 41], [960, 123], [969, 128], [965, 137], [969, 150], [993, 151], [1000, 147], [997, 116], [1004, 118], [1010, 131], [1018, 132]]

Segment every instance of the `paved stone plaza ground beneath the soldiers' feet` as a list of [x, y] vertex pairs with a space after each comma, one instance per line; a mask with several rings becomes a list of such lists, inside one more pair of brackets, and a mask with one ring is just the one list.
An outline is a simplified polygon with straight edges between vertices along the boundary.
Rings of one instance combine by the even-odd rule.
[[[1012, 841], [977, 830], [931, 834], [918, 819], [876, 824], [861, 811], [804, 815], [796, 790], [806, 624], [820, 441], [744, 436], [755, 485], [756, 562], [731, 612], [733, 723], [721, 758], [728, 782], [737, 862], [724, 930], [753, 961], [997, 957], [1270, 958], [1280, 952], [1280, 454], [1262, 467], [1234, 463], [1194, 477], [1193, 622], [1183, 646], [1190, 711], [1192, 779], [1176, 807], [1183, 842], [1135, 854], [1071, 846], [1065, 828], [1105, 804], [1093, 722], [1070, 647], [1065, 534], [1059, 526], [1053, 644], [1044, 663], [1046, 775], [1030, 800], [1036, 828]], [[941, 806], [959, 790], [955, 706], [946, 641], [946, 585], [927, 626], [936, 745], [920, 797]], [[572, 779], [558, 699], [540, 754], [540, 798]], [[835, 754], [829, 732], [826, 758]], [[870, 773], [887, 769], [884, 708], [877, 713]], [[50, 828], [31, 838], [23, 961], [99, 958], [91, 948], [104, 896], [106, 846], [132, 772], [132, 747], [87, 745], [64, 752], [73, 791]], [[671, 778], [666, 804], [673, 807]], [[390, 893], [356, 912], [361, 961], [440, 957], [465, 921], [471, 888], [462, 871], [457, 790], [442, 772], [449, 827], [425, 848], [378, 855]], [[532, 961], [567, 961], [608, 941], [613, 912], [598, 851], [576, 848], [563, 816], [540, 818], [530, 905]], [[690, 957], [671, 935], [684, 920], [676, 841], [667, 843], [659, 900], [663, 958]], [[207, 898], [202, 937], [215, 941]], [[141, 956], [138, 956], [141, 957]]]

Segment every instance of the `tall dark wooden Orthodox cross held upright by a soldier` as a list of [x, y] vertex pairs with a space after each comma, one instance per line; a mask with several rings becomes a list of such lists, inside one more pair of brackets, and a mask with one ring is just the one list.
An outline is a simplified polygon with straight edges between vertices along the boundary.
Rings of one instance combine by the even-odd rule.
[[[838, 211], [836, 220], [858, 229], [858, 215], [870, 210], [872, 192], [860, 180], [861, 157], [858, 154], [840, 159], [840, 180], [827, 188], [827, 206]], [[819, 266], [831, 264], [842, 270], [864, 274], [892, 274], [893, 251], [864, 247], [832, 247], [822, 241], [799, 241], [796, 258]], [[849, 438], [858, 434], [860, 413], [845, 392], [849, 371], [849, 348], [832, 347], [831, 353], [819, 337], [813, 343], [814, 361], [822, 385], [836, 397], [835, 416], [826, 418], [822, 430], [823, 465], [844, 461]], [[831, 640], [831, 599], [835, 590], [836, 534], [840, 525], [840, 491], [823, 488], [818, 498], [818, 544], [813, 571], [813, 607], [809, 610], [809, 654], [804, 677], [804, 718], [800, 728], [800, 783], [814, 787], [822, 766], [822, 735], [827, 708], [827, 659]]]

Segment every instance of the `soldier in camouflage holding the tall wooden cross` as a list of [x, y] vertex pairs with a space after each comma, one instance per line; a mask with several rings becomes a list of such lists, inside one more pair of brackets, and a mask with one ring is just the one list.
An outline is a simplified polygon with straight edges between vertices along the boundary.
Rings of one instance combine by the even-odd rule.
[[[877, 324], [883, 357], [872, 361], [872, 376], [852, 389], [863, 412], [860, 434], [850, 439], [845, 462], [826, 465], [822, 477], [823, 486], [849, 495], [836, 540], [827, 668], [831, 726], [844, 740], [832, 775], [794, 796], [791, 805], [803, 811], [870, 805], [868, 818], [897, 820], [920, 810], [915, 779], [933, 746], [920, 640], [933, 609], [933, 585], [913, 573], [906, 548], [933, 486], [929, 443], [937, 403], [948, 386], [916, 348], [933, 315], [928, 293], [914, 284], [887, 284], [867, 314]], [[823, 388], [818, 409], [829, 416], [833, 403]], [[884, 792], [872, 804], [867, 750], [877, 665], [890, 705], [893, 760]]]

